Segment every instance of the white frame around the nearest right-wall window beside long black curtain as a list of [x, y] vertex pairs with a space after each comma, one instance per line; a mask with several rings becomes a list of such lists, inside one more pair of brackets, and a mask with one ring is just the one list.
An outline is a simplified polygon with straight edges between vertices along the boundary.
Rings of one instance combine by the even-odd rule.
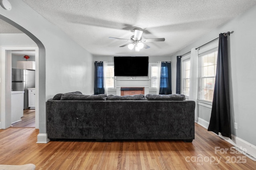
[[210, 43], [209, 45], [205, 46], [205, 47], [202, 47], [198, 50], [198, 104], [202, 105], [202, 106], [205, 106], [205, 105], [208, 105], [206, 107], [209, 107], [211, 108], [212, 107], [212, 102], [208, 101], [208, 100], [202, 100], [202, 99], [199, 99], [199, 93], [200, 93], [200, 76], [199, 76], [199, 73], [200, 73], [200, 63], [201, 60], [200, 60], [200, 57], [201, 56], [204, 56], [204, 55], [207, 55], [207, 54], [210, 54], [214, 51], [218, 51], [218, 41], [214, 41], [212, 43]]

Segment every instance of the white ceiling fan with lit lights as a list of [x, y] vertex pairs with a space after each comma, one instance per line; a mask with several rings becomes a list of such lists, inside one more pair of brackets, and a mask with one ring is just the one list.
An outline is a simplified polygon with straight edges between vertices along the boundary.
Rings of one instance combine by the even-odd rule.
[[[132, 50], [135, 47], [135, 51], [140, 51], [140, 49], [142, 48], [145, 48], [145, 49], [150, 48], [150, 46], [146, 45], [145, 43], [165, 41], [165, 38], [142, 39], [143, 31], [138, 28], [134, 28], [133, 30], [134, 30], [134, 35], [131, 36], [131, 39], [123, 39], [131, 42], [125, 45], [121, 45], [120, 47], [128, 46], [130, 50]], [[109, 37], [109, 38], [122, 39], [122, 38], [115, 38], [115, 37]]]

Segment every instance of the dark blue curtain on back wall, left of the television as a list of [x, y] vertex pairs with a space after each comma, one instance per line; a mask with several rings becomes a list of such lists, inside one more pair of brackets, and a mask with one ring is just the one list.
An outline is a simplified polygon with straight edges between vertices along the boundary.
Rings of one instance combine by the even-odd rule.
[[104, 75], [103, 75], [103, 62], [94, 62], [94, 94], [104, 94]]

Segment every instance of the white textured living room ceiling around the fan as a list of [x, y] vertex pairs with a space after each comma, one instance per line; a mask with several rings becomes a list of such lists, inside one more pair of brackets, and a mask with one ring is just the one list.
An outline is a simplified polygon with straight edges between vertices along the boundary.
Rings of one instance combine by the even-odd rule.
[[[94, 55], [171, 54], [256, 5], [256, 0], [23, 0]], [[133, 28], [165, 38], [139, 52], [119, 47]], [[232, 30], [227, 30], [232, 31]], [[218, 36], [218, 35], [216, 35]]]

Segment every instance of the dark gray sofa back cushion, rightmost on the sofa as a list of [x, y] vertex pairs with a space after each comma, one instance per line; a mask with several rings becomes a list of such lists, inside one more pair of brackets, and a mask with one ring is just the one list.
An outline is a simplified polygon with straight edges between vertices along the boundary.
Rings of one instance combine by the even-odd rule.
[[184, 94], [147, 94], [146, 100], [161, 100], [161, 101], [182, 101], [186, 100]]

